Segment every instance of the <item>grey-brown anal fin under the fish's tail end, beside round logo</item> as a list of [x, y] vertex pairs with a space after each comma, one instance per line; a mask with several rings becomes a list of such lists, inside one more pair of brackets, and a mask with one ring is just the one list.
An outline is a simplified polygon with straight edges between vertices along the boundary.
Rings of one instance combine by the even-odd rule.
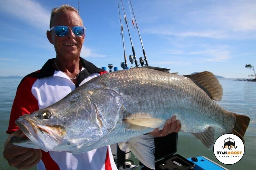
[[207, 149], [211, 149], [215, 139], [215, 129], [207, 127], [204, 132], [192, 133], [198, 140], [200, 140]]

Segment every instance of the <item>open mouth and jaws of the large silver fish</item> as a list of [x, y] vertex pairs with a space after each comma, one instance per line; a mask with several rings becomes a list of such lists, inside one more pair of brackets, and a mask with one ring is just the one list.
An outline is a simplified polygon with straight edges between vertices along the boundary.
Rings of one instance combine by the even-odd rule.
[[40, 124], [28, 117], [20, 117], [15, 123], [28, 137], [28, 139], [12, 137], [10, 142], [18, 146], [42, 149], [48, 152], [61, 144], [66, 135], [64, 126]]

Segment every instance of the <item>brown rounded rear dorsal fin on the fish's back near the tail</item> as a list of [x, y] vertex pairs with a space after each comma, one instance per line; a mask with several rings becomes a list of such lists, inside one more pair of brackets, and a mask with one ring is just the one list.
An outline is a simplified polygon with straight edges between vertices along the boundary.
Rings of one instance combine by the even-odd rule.
[[222, 87], [219, 80], [211, 72], [204, 71], [184, 76], [193, 80], [212, 100], [221, 100], [223, 94]]

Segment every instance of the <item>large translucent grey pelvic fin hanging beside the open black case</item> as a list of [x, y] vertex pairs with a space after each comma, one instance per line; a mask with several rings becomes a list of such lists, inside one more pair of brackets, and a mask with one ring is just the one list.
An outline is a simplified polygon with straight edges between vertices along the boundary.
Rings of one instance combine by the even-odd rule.
[[140, 162], [151, 169], [155, 169], [155, 142], [151, 135], [131, 138], [126, 144]]

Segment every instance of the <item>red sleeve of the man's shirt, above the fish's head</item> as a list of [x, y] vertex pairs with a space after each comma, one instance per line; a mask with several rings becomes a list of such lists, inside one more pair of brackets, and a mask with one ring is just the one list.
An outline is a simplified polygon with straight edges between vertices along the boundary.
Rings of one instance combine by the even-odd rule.
[[19, 127], [15, 124], [20, 115], [29, 114], [38, 110], [38, 102], [31, 93], [31, 87], [37, 78], [25, 77], [17, 88], [16, 96], [12, 104], [9, 127], [6, 133], [15, 132]]

